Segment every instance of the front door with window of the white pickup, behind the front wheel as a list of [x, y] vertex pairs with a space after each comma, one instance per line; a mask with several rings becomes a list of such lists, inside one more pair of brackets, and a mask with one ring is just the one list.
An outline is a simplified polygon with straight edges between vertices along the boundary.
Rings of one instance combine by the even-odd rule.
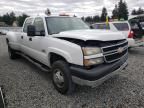
[[29, 37], [28, 46], [30, 48], [30, 56], [41, 63], [46, 63], [46, 49], [43, 48], [45, 40], [45, 27], [43, 19], [40, 17], [35, 18], [33, 25], [35, 26], [35, 36]]

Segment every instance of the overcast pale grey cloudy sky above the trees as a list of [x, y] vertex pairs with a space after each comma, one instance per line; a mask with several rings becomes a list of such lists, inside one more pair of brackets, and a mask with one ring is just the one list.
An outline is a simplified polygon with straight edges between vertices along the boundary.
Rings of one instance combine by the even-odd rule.
[[[111, 15], [115, 4], [119, 0], [0, 0], [0, 15], [14, 11], [17, 15], [26, 13], [28, 15], [44, 14], [49, 8], [52, 14], [66, 12], [70, 15], [88, 16], [100, 15], [105, 6]], [[144, 8], [144, 0], [125, 0], [129, 12], [134, 8]]]

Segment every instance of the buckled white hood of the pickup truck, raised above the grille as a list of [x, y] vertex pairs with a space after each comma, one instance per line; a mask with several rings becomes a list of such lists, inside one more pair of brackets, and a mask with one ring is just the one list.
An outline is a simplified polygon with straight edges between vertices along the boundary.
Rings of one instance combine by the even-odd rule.
[[72, 30], [53, 35], [53, 37], [73, 38], [80, 40], [111, 41], [126, 39], [121, 32], [110, 30]]

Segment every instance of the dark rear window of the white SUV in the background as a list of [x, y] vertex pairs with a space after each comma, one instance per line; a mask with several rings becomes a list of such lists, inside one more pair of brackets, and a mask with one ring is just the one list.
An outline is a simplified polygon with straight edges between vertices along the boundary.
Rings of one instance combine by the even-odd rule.
[[129, 30], [129, 26], [127, 23], [113, 23], [113, 24], [119, 31], [128, 31]]

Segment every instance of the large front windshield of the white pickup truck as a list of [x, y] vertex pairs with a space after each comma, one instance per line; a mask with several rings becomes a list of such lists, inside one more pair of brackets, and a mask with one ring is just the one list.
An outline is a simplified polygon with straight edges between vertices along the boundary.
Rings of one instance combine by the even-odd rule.
[[49, 34], [57, 34], [69, 30], [90, 29], [81, 19], [74, 17], [47, 17]]

